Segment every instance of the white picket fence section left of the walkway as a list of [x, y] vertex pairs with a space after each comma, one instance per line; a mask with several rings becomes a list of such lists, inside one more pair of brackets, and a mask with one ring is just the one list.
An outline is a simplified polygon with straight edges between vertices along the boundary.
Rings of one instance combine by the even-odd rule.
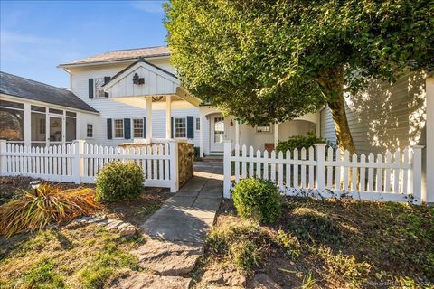
[[112, 161], [134, 162], [143, 170], [145, 185], [170, 188], [178, 181], [178, 145], [154, 144], [142, 148], [120, 148], [87, 144], [28, 147], [0, 140], [0, 175], [29, 176], [54, 182], [94, 183], [105, 164]]

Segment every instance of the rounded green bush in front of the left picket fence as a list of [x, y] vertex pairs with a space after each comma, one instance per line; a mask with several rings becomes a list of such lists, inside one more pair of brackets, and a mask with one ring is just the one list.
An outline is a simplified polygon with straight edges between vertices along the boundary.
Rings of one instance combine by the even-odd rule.
[[97, 178], [99, 201], [134, 200], [143, 191], [145, 179], [136, 163], [113, 162], [105, 165]]

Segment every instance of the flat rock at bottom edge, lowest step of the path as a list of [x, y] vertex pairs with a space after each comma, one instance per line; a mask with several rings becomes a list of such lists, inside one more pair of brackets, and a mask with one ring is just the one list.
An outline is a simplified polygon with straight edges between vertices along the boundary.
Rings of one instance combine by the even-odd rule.
[[126, 275], [115, 280], [110, 288], [114, 289], [143, 289], [143, 288], [165, 288], [165, 289], [187, 289], [192, 284], [192, 279], [179, 276], [151, 275], [144, 272], [130, 271]]

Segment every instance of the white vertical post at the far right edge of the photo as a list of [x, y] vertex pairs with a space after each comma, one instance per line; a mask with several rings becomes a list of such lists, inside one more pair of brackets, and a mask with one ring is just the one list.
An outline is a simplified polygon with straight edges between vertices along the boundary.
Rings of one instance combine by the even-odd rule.
[[427, 92], [427, 144], [426, 152], [426, 185], [422, 184], [422, 199], [425, 197], [428, 203], [434, 202], [434, 77], [426, 79]]

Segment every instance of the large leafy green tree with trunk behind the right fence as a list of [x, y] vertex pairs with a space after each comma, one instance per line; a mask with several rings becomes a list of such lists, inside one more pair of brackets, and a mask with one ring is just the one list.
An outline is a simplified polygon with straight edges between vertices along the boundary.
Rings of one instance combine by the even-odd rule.
[[403, 70], [432, 69], [431, 0], [171, 0], [165, 26], [184, 86], [263, 124], [327, 104], [354, 153], [344, 92]]

